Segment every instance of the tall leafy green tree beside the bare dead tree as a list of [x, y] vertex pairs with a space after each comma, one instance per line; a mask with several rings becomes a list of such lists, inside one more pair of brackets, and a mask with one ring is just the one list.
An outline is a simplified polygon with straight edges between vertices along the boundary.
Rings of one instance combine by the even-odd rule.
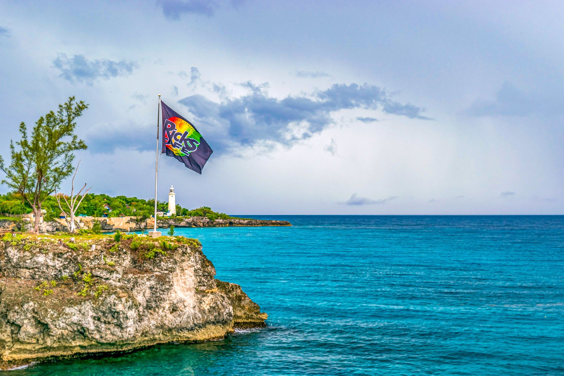
[[20, 124], [21, 140], [10, 141], [11, 163], [6, 166], [0, 157], [0, 170], [6, 174], [3, 184], [21, 194], [32, 207], [35, 215], [33, 232], [39, 232], [41, 205], [59, 188], [61, 182], [72, 174], [74, 151], [86, 149], [84, 141], [74, 134], [76, 118], [88, 108], [83, 101], [75, 102], [74, 96], [59, 104], [57, 112], [49, 112], [39, 118], [31, 137], [25, 123]]

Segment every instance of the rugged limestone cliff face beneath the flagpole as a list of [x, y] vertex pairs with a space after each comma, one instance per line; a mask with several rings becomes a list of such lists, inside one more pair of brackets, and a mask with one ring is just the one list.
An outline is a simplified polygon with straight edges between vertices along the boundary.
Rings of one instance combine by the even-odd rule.
[[186, 238], [6, 236], [0, 273], [1, 368], [218, 339], [267, 317]]

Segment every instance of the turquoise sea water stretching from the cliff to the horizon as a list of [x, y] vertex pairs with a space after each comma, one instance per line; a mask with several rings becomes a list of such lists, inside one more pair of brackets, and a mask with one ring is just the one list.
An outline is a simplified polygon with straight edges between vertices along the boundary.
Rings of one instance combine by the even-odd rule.
[[562, 375], [564, 216], [177, 228], [268, 328], [12, 375]]

